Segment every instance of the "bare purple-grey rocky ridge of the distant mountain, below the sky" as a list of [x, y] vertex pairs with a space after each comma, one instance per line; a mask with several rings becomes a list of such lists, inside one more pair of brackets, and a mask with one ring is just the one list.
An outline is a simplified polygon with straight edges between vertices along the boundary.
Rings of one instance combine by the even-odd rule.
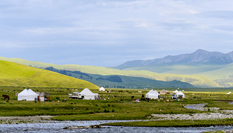
[[191, 65], [191, 64], [230, 64], [233, 63], [233, 52], [223, 54], [220, 52], [208, 52], [197, 50], [191, 54], [181, 54], [176, 56], [166, 56], [153, 60], [134, 60], [128, 61], [115, 68], [126, 69], [140, 66], [158, 66], [158, 65]]

